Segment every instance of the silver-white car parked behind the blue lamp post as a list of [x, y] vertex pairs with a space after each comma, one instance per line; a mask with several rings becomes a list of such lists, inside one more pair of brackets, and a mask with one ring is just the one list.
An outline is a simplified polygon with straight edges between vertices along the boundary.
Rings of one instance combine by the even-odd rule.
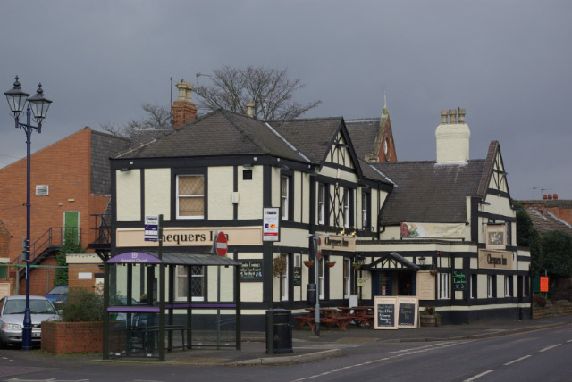
[[[25, 309], [25, 295], [9, 295], [0, 300], [0, 346], [21, 345]], [[54, 305], [40, 295], [29, 296], [29, 313], [32, 319], [32, 344], [39, 344], [42, 321], [60, 320], [60, 315]]]

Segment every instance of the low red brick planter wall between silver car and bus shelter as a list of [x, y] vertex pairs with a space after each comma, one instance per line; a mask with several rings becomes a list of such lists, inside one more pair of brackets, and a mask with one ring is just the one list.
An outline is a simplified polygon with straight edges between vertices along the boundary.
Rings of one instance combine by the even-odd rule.
[[103, 353], [103, 322], [42, 322], [42, 350], [53, 353]]

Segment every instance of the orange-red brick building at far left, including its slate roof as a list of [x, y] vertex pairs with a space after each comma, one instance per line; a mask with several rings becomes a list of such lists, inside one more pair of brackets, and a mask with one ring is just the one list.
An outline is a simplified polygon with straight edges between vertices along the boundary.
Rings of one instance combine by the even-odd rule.
[[[86, 127], [31, 155], [32, 263], [55, 265], [66, 231], [77, 232], [83, 246], [94, 241], [93, 215], [103, 214], [110, 198], [108, 159], [129, 143]], [[6, 257], [19, 263], [21, 239], [26, 237], [26, 158], [0, 169], [0, 184], [0, 220], [12, 235]], [[15, 268], [11, 271], [15, 276]], [[46, 294], [54, 274], [52, 268], [32, 269], [30, 294]], [[24, 282], [21, 279], [21, 294]]]

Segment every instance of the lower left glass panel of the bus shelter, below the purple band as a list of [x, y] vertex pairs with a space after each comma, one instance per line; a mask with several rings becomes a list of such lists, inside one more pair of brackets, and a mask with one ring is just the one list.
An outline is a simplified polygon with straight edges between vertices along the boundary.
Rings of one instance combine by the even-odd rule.
[[109, 357], [159, 357], [159, 313], [109, 312]]

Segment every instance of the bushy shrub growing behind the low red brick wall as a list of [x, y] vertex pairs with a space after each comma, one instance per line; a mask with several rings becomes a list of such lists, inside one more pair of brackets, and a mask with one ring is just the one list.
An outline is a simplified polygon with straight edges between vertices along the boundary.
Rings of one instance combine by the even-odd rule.
[[91, 322], [104, 320], [104, 296], [85, 288], [73, 288], [62, 304], [63, 322]]

